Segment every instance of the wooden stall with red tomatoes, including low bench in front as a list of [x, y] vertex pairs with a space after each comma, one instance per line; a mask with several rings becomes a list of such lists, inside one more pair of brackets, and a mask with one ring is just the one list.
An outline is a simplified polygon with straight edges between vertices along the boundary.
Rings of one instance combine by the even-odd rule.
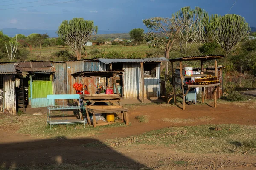
[[[116, 83], [118, 79], [118, 74], [122, 74], [123, 71], [87, 71], [87, 72], [76, 72], [72, 76], [75, 79], [82, 79], [82, 82], [79, 83], [79, 88], [76, 88], [76, 91], [79, 91], [80, 98], [83, 100], [84, 105], [86, 105], [85, 112], [89, 125], [93, 122], [93, 127], [97, 125], [108, 125], [116, 122], [126, 122], [126, 125], [129, 125], [129, 116], [128, 108], [122, 107], [121, 96], [119, 94], [119, 89]], [[106, 85], [94, 84], [96, 91], [88, 91], [86, 79], [99, 79], [106, 78]], [[98, 82], [96, 80], [96, 82]], [[75, 88], [75, 87], [74, 87]], [[114, 94], [113, 88], [116, 89], [116, 94]], [[121, 114], [115, 116], [114, 113], [120, 112]], [[103, 116], [101, 114], [105, 114]], [[91, 116], [90, 116], [91, 115]], [[92, 118], [92, 119], [91, 119]], [[103, 120], [100, 121], [100, 120]]]

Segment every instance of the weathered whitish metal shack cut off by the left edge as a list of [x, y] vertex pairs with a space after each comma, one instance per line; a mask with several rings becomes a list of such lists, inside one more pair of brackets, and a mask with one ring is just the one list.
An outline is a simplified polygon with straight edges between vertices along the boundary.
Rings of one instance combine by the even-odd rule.
[[16, 114], [15, 74], [13, 63], [0, 64], [0, 113]]

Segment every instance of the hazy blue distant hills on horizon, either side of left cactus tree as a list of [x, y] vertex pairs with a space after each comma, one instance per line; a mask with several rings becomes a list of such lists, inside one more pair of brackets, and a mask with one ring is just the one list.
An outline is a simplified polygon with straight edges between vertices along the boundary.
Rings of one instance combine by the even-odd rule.
[[[3, 31], [3, 34], [8, 35], [9, 37], [15, 37], [16, 34], [24, 34], [25, 36], [28, 36], [29, 34], [32, 34], [32, 33], [38, 33], [38, 34], [47, 33], [49, 37], [58, 37], [58, 35], [56, 34], [57, 30], [3, 28], [2, 31]], [[117, 33], [122, 33], [122, 31], [98, 30], [97, 34], [117, 34]]]

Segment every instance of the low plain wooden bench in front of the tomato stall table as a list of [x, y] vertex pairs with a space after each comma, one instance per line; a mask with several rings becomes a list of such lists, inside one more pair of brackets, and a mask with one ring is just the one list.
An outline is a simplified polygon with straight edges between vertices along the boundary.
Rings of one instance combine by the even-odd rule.
[[[122, 121], [116, 121], [116, 122], [124, 122], [125, 120], [126, 125], [129, 125], [128, 108], [124, 108], [122, 106], [87, 106], [85, 111], [86, 111], [87, 117], [89, 117], [88, 112], [93, 114], [93, 127], [97, 126], [95, 114], [115, 113], [115, 112], [121, 112], [121, 116], [122, 116]], [[88, 119], [88, 122], [91, 124], [90, 119]], [[101, 123], [98, 125], [108, 125], [116, 122], [107, 122], [107, 123]]]

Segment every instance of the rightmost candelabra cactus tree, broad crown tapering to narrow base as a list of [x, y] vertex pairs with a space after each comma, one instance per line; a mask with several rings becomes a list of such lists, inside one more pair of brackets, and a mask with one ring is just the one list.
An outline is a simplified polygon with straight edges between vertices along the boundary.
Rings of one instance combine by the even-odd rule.
[[238, 43], [243, 39], [247, 39], [250, 33], [249, 24], [240, 15], [213, 15], [210, 23], [212, 24], [213, 37], [225, 51], [226, 59]]

